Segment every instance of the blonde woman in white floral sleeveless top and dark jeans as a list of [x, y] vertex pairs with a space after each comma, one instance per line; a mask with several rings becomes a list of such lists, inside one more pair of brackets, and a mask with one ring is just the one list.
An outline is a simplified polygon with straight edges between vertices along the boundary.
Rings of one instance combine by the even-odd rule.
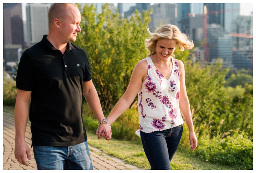
[[[134, 67], [127, 90], [107, 120], [111, 125], [138, 94], [140, 129], [136, 134], [141, 137], [151, 169], [171, 169], [183, 131], [181, 113], [188, 125], [190, 149], [194, 151], [197, 146], [184, 65], [173, 55], [176, 47], [183, 51], [192, 49], [194, 43], [174, 25], [163, 25], [155, 33], [147, 30], [151, 35], [145, 39], [148, 57]], [[101, 135], [106, 136], [106, 132]]]

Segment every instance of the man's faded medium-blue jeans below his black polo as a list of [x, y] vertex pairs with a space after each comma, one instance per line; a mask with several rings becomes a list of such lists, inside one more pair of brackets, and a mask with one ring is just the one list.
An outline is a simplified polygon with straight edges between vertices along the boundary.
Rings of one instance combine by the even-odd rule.
[[37, 169], [93, 169], [87, 141], [74, 146], [33, 146]]

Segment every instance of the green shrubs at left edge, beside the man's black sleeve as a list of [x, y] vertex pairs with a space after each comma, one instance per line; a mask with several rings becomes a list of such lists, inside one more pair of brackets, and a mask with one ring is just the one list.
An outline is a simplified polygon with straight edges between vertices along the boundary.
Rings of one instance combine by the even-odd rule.
[[15, 81], [4, 71], [3, 104], [6, 106], [15, 106], [16, 92], [17, 89]]

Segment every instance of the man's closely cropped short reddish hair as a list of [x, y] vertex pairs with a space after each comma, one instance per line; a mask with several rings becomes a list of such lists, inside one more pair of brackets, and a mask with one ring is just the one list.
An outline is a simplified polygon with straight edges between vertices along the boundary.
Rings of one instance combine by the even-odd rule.
[[[77, 7], [76, 4], [74, 3], [54, 3], [50, 6], [49, 11], [48, 11], [48, 22], [49, 26], [53, 23], [53, 20], [58, 18], [58, 19], [63, 19], [66, 17], [66, 9], [68, 4], [72, 4]], [[78, 7], [77, 7], [78, 8]]]

